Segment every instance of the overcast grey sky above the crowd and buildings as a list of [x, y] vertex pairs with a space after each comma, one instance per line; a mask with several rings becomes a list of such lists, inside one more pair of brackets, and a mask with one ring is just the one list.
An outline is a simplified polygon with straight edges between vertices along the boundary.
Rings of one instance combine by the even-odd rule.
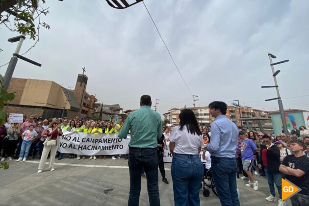
[[[91, 2], [91, 3], [90, 3]], [[264, 110], [278, 109], [268, 52], [274, 62], [285, 109], [309, 110], [308, 0], [144, 0], [180, 73], [206, 106], [216, 100]], [[139, 108], [151, 95], [162, 114], [172, 107], [193, 106], [142, 2], [114, 9], [105, 0], [47, 0], [50, 14], [41, 17], [51, 29], [25, 54], [42, 64], [19, 60], [13, 77], [46, 79], [75, 87], [85, 67], [87, 92], [99, 102]], [[0, 65], [9, 61], [19, 35], [0, 25]], [[27, 38], [21, 53], [33, 45]], [[0, 68], [4, 75], [7, 66]], [[300, 97], [302, 96], [302, 97]], [[294, 98], [296, 97], [296, 98]], [[287, 99], [288, 98], [288, 99]]]

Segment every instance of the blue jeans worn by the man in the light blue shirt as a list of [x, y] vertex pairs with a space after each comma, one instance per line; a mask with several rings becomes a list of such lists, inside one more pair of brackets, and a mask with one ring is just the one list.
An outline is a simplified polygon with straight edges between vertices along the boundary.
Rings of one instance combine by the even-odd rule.
[[235, 158], [211, 156], [211, 174], [221, 206], [239, 206]]

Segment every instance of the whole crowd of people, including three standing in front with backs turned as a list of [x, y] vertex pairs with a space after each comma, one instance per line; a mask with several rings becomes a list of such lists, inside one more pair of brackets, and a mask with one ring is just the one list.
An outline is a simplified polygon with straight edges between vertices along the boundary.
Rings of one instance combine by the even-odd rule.
[[[57, 147], [64, 130], [89, 134], [119, 133], [119, 138], [127, 138], [131, 133], [129, 154], [126, 155], [130, 174], [129, 205], [138, 205], [143, 173], [147, 176], [150, 205], [160, 205], [157, 177], [159, 168], [162, 181], [168, 183], [163, 164], [167, 142], [173, 154], [171, 175], [175, 206], [200, 205], [200, 185], [210, 169], [222, 206], [240, 205], [236, 178], [248, 180], [245, 186], [257, 191], [259, 186], [255, 176], [258, 175], [266, 176], [268, 182], [270, 196], [265, 198], [266, 201], [278, 201], [278, 206], [286, 204], [282, 200], [281, 183], [285, 178], [302, 189], [291, 198], [292, 205], [309, 205], [309, 132], [306, 127], [297, 129], [294, 126], [288, 134], [278, 135], [243, 131], [226, 118], [227, 105], [223, 102], [209, 104], [209, 113], [215, 117], [211, 128], [199, 127], [190, 109], [181, 110], [179, 126], [162, 126], [160, 116], [150, 106], [150, 96], [142, 96], [141, 108], [130, 114], [125, 123], [122, 120], [118, 123], [82, 121], [78, 117], [72, 120], [42, 119], [32, 115], [24, 123], [6, 122], [0, 127], [1, 161], [13, 158], [26, 161], [38, 157], [38, 173], [41, 173], [50, 158], [49, 168], [53, 171], [55, 156], [59, 160], [63, 158]], [[68, 156], [85, 158], [77, 154]], [[120, 155], [111, 158], [115, 160], [116, 157], [121, 158]], [[104, 155], [103, 158], [107, 157]], [[97, 157], [90, 156], [89, 159]]]

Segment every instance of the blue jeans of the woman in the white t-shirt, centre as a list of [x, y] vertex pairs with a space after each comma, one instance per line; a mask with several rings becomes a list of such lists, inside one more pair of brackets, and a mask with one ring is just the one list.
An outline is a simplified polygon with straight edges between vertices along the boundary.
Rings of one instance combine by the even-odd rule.
[[174, 154], [172, 179], [175, 206], [199, 206], [204, 168], [198, 154]]

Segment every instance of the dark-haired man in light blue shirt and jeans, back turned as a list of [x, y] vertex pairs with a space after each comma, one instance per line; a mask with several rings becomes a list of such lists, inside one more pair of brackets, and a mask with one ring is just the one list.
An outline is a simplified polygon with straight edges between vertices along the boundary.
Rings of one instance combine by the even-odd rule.
[[222, 206], [239, 206], [235, 159], [239, 130], [225, 116], [228, 108], [226, 103], [215, 101], [208, 106], [215, 120], [211, 124], [210, 143], [206, 150], [211, 154], [211, 173], [218, 197]]

